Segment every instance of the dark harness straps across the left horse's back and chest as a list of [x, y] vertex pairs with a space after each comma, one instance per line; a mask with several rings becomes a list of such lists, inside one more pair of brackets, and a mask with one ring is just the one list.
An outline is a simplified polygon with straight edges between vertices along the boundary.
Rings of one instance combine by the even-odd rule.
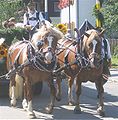
[[[17, 53], [17, 55], [14, 59], [14, 63], [13, 63], [13, 65], [11, 65], [12, 68], [9, 70], [9, 72], [5, 75], [0, 76], [0, 79], [4, 78], [4, 77], [6, 79], [9, 79], [16, 72], [21, 72], [21, 70], [26, 66], [31, 66], [34, 69], [40, 70], [40, 71], [52, 72], [52, 70], [56, 67], [56, 63], [57, 63], [56, 57], [53, 58], [53, 60], [50, 64], [46, 64], [44, 62], [44, 56], [41, 53], [41, 51], [36, 51], [35, 47], [33, 46], [33, 44], [30, 41], [24, 40], [24, 41], [20, 42], [19, 44], [21, 44], [21, 43], [26, 43], [26, 45], [24, 47], [22, 47], [20, 49], [20, 51]], [[27, 60], [23, 64], [20, 64], [19, 63], [20, 55], [23, 52], [24, 48], [26, 48], [26, 47], [27, 47], [27, 51], [28, 51], [27, 52]], [[10, 52], [11, 54], [12, 54], [13, 50], [14, 50], [14, 48], [11, 49], [11, 52]], [[10, 53], [9, 53], [9, 56], [10, 56]], [[9, 64], [11, 64], [11, 63], [9, 63]]]

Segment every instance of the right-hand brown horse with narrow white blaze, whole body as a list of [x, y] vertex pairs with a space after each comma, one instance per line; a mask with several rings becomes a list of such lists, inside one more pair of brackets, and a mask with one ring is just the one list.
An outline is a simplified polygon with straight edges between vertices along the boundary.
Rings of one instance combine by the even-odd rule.
[[[74, 39], [64, 38], [58, 41], [58, 64], [60, 66], [55, 73], [63, 70], [68, 76], [68, 102], [73, 104], [72, 85], [76, 80], [76, 102], [75, 113], [81, 113], [79, 96], [81, 94], [82, 82], [95, 82], [99, 94], [99, 106], [97, 111], [104, 115], [103, 84], [102, 84], [102, 40], [101, 33], [91, 29], [84, 33], [81, 44], [75, 43]], [[61, 82], [57, 74], [57, 98], [61, 99]]]

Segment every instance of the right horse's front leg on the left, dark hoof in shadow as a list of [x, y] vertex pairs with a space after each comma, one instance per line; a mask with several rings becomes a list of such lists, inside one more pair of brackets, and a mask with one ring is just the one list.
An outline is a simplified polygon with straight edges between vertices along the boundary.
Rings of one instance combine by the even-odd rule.
[[81, 95], [81, 81], [76, 80], [76, 103], [75, 103], [75, 108], [74, 108], [74, 113], [75, 114], [81, 114], [81, 108], [80, 108], [80, 103], [79, 103], [79, 97]]

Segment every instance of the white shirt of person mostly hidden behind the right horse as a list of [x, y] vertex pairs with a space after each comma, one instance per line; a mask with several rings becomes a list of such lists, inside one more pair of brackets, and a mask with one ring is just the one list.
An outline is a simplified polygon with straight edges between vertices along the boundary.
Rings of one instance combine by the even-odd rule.
[[107, 59], [111, 59], [110, 44], [109, 44], [109, 41], [106, 38], [102, 38], [102, 55], [103, 55], [103, 58], [105, 58], [105, 50], [104, 50], [105, 46], [104, 46], [104, 42], [103, 42], [104, 39], [107, 42]]

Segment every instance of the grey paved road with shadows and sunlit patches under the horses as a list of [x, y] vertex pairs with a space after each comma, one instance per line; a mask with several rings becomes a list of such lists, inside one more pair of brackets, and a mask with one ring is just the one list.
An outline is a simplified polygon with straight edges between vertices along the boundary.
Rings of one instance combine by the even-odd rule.
[[[95, 85], [87, 82], [83, 83], [82, 95], [80, 99], [82, 114], [74, 114], [74, 106], [67, 105], [67, 85], [63, 81], [62, 100], [55, 103], [53, 114], [45, 114], [44, 107], [49, 101], [49, 89], [44, 84], [41, 95], [34, 97], [33, 107], [37, 118], [39, 119], [118, 119], [118, 70], [111, 69], [112, 76], [104, 85], [105, 88], [105, 110], [106, 117], [102, 118], [96, 113], [96, 95]], [[27, 113], [21, 108], [21, 101], [18, 101], [16, 108], [9, 107], [9, 98], [0, 98], [0, 119], [27, 119]]]

